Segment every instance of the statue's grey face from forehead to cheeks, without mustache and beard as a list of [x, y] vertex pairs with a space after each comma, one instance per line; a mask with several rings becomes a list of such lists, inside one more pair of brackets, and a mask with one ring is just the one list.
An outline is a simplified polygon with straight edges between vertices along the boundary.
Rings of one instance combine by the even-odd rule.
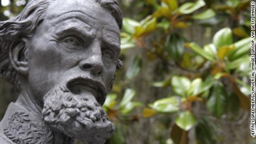
[[[98, 3], [56, 1], [28, 46], [29, 90], [43, 103], [52, 87], [78, 77], [109, 89], [120, 53], [119, 27]], [[99, 101], [102, 105], [104, 97]]]

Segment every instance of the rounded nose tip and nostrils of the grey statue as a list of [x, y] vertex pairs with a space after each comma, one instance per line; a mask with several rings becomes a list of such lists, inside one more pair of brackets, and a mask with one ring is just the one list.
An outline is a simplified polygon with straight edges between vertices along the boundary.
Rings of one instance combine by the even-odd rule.
[[100, 75], [103, 72], [103, 62], [101, 56], [91, 56], [79, 63], [80, 69], [89, 71], [92, 75]]

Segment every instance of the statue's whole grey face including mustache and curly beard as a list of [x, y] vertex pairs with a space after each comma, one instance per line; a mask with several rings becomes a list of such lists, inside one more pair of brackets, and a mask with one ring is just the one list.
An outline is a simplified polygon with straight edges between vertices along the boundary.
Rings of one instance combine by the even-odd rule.
[[120, 53], [119, 27], [93, 1], [50, 4], [28, 41], [28, 90], [54, 130], [87, 143], [104, 143], [114, 131], [102, 105]]

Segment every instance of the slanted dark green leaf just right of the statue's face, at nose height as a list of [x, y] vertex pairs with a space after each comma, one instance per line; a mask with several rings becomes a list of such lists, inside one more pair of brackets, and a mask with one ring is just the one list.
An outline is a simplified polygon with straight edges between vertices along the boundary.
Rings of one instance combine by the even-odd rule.
[[140, 72], [141, 65], [142, 65], [141, 58], [139, 56], [136, 56], [134, 58], [134, 60], [132, 61], [132, 63], [130, 64], [130, 66], [128, 67], [128, 69], [127, 69], [127, 72], [126, 72], [126, 75], [125, 75], [126, 78], [131, 80], [132, 78], [137, 76]]

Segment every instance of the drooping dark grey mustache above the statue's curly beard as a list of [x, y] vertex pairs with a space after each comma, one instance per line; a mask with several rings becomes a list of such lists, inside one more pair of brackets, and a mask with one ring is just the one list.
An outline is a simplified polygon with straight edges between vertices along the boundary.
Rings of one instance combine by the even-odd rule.
[[97, 102], [102, 106], [106, 100], [107, 88], [99, 77], [91, 75], [79, 75], [67, 77], [66, 81], [60, 85], [63, 92], [79, 94], [86, 90], [93, 94]]

